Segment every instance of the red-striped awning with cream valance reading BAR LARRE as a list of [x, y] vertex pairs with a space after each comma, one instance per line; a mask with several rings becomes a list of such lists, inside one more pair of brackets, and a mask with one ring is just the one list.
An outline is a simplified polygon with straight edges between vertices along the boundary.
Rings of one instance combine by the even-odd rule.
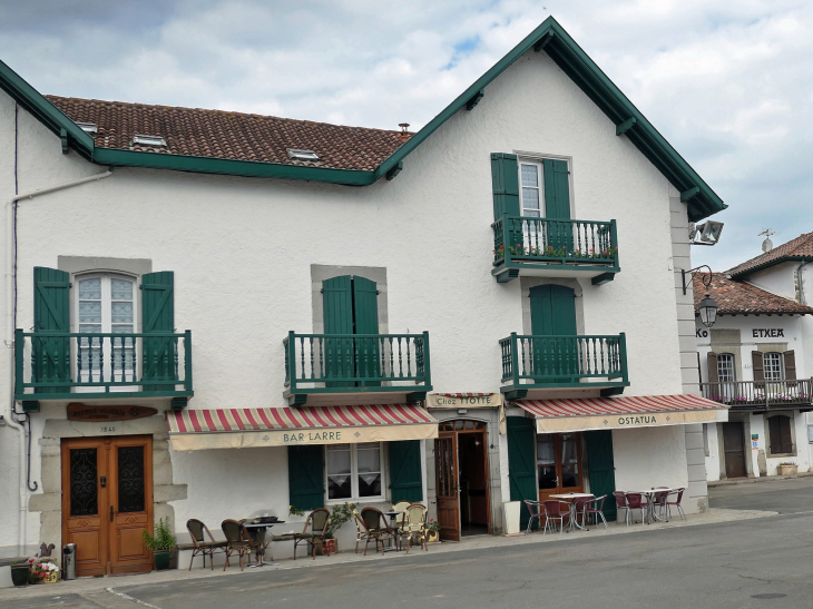
[[167, 423], [176, 451], [438, 438], [438, 421], [415, 404], [183, 410]]

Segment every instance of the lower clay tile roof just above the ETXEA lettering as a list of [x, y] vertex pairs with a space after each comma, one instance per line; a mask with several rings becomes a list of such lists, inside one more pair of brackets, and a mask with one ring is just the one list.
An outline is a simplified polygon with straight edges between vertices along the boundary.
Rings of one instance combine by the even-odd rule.
[[[698, 314], [697, 307], [706, 295], [706, 286], [703, 278], [708, 273], [695, 273], [693, 277], [693, 288], [695, 294], [695, 315]], [[744, 282], [735, 282], [728, 279], [723, 273], [712, 274], [712, 285], [708, 294], [717, 302], [717, 315], [742, 315], [742, 314], [794, 314], [794, 315], [813, 315], [813, 307], [776, 296], [758, 287]]]

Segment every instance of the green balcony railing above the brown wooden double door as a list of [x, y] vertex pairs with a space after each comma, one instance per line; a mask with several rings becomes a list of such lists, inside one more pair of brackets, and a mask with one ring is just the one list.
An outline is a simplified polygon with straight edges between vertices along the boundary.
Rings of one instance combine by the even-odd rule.
[[16, 400], [192, 395], [188, 330], [14, 333]]

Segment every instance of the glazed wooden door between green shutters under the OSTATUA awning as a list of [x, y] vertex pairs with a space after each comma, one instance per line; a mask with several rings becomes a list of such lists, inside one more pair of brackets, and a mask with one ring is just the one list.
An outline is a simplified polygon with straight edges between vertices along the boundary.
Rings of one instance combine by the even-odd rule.
[[551, 494], [580, 493], [581, 434], [537, 434], [537, 466], [539, 469], [539, 501]]

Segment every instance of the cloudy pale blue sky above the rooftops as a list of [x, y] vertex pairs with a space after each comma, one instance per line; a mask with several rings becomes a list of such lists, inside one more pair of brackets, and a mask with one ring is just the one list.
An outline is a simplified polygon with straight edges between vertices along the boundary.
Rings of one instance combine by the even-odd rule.
[[554, 16], [729, 208], [725, 271], [813, 230], [813, 2], [0, 0], [43, 94], [417, 130]]

